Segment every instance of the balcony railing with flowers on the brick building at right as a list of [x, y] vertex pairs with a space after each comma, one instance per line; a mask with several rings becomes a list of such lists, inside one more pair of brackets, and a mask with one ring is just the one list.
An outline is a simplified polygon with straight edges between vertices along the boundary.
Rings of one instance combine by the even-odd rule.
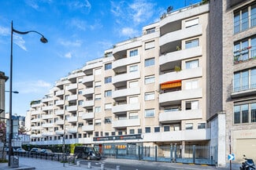
[[241, 63], [247, 60], [256, 59], [256, 46], [249, 46], [234, 52], [234, 63]]

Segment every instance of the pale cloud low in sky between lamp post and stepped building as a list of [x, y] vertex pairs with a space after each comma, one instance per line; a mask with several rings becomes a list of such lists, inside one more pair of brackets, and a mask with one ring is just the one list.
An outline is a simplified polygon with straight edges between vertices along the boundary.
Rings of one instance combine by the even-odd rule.
[[33, 93], [33, 92], [44, 92], [46, 89], [51, 87], [51, 84], [43, 81], [22, 81], [15, 83], [15, 88], [19, 89], [20, 93]]

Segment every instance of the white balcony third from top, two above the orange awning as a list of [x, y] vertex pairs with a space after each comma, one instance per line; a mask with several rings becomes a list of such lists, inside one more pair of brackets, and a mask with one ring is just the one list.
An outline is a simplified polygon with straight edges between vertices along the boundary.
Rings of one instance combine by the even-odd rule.
[[[202, 46], [194, 47], [191, 49], [181, 49], [161, 55], [159, 57], [159, 65], [160, 67], [169, 67], [169, 63], [190, 59], [195, 56], [202, 56]], [[162, 68], [161, 70], [168, 69]]]

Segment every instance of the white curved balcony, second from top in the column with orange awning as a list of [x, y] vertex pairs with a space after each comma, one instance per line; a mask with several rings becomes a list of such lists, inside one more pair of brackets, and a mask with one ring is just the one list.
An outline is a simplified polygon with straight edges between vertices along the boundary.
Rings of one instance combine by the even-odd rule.
[[[159, 38], [161, 49], [166, 49], [170, 42], [176, 42], [182, 39], [195, 37], [202, 34], [202, 25], [187, 27], [183, 30], [169, 32]], [[165, 51], [165, 50], [162, 50]]]

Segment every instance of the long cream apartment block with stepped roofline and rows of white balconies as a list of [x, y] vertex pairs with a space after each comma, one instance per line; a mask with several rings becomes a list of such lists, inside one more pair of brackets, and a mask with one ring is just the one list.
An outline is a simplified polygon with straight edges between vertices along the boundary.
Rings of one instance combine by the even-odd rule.
[[209, 146], [209, 12], [165, 13], [61, 78], [31, 104], [31, 144]]

